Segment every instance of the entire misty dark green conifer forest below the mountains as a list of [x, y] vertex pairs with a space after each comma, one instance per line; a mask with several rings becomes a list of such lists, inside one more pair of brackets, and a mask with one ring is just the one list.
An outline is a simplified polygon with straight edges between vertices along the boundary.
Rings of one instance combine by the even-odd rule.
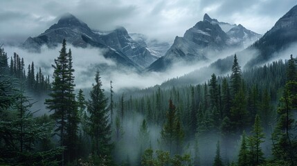
[[77, 89], [73, 58], [64, 39], [44, 75], [0, 49], [0, 165], [297, 165], [293, 55], [245, 70], [234, 55], [228, 75], [120, 93], [99, 69]]

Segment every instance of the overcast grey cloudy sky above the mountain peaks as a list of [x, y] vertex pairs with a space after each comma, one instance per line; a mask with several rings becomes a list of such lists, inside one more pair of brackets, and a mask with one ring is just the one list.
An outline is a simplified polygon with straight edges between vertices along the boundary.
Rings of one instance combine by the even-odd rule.
[[4, 0], [0, 3], [0, 42], [35, 37], [70, 12], [90, 28], [124, 26], [164, 41], [182, 36], [208, 13], [264, 34], [296, 0]]

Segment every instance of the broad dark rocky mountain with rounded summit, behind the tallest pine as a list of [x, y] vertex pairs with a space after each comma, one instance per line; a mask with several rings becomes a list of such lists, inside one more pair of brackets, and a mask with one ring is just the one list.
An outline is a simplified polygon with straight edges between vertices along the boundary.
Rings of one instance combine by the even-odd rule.
[[158, 57], [151, 55], [150, 51], [142, 44], [134, 41], [123, 27], [116, 28], [107, 33], [91, 30], [87, 24], [67, 13], [57, 24], [37, 37], [28, 37], [23, 48], [31, 51], [40, 51], [42, 45], [48, 48], [60, 46], [63, 39], [68, 44], [86, 48], [91, 45], [106, 49], [105, 57], [116, 60], [117, 64], [136, 68], [141, 71], [149, 66]]

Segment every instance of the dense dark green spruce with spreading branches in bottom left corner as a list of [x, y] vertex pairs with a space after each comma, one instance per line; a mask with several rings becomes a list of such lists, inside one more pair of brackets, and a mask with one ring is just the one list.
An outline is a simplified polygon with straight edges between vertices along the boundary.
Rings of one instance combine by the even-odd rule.
[[46, 120], [38, 124], [29, 111], [33, 103], [23, 92], [15, 93], [17, 100], [10, 107], [13, 111], [6, 112], [13, 118], [0, 120], [0, 165], [58, 165], [57, 155], [63, 148], [44, 147], [44, 140], [52, 136], [52, 123]]

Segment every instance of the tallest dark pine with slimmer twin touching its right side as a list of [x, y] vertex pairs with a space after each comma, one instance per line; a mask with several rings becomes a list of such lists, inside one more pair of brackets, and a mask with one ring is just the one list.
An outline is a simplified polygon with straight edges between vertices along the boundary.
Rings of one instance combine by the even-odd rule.
[[[45, 104], [50, 111], [54, 111], [51, 117], [57, 122], [56, 131], [60, 135], [61, 147], [67, 146], [66, 159], [73, 160], [75, 156], [77, 130], [78, 130], [78, 109], [75, 102], [74, 77], [71, 62], [71, 51], [66, 53], [66, 40], [62, 42], [60, 56], [55, 59], [53, 83], [50, 98]], [[34, 73], [34, 64], [31, 65], [31, 75]], [[35, 83], [35, 80], [34, 80]], [[74, 150], [74, 151], [73, 151]], [[62, 153], [62, 165], [64, 165], [65, 151]]]

